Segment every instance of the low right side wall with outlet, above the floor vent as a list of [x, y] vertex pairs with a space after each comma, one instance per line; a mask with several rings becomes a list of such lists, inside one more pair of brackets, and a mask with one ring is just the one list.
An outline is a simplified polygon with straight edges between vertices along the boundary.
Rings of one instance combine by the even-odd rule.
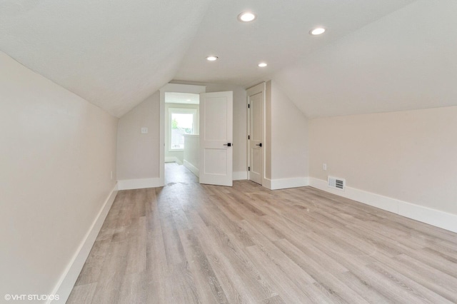
[[457, 106], [313, 119], [310, 176], [457, 215], [456, 118]]

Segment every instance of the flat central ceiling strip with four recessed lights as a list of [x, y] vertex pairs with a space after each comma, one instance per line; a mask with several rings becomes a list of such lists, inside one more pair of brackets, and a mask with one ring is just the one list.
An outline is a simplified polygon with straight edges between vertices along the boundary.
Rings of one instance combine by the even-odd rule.
[[[212, 1], [175, 79], [249, 86], [413, 0]], [[241, 23], [241, 11], [257, 19]], [[311, 36], [325, 26], [322, 36]], [[206, 56], [219, 56], [206, 62]], [[268, 67], [257, 64], [266, 61]]]

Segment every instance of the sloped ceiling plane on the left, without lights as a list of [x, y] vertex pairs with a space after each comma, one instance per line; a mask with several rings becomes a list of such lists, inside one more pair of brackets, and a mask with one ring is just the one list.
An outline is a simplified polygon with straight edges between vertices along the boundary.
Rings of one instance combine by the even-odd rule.
[[0, 50], [122, 116], [169, 82], [210, 0], [0, 2]]

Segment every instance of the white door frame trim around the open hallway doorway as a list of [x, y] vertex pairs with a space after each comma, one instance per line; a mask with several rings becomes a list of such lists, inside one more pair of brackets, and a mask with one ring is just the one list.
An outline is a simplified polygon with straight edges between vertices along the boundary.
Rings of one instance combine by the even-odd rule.
[[160, 118], [159, 118], [159, 161], [160, 161], [160, 172], [159, 179], [160, 185], [165, 186], [165, 93], [205, 93], [206, 86], [195, 86], [191, 84], [180, 84], [180, 83], [167, 83], [160, 89]]

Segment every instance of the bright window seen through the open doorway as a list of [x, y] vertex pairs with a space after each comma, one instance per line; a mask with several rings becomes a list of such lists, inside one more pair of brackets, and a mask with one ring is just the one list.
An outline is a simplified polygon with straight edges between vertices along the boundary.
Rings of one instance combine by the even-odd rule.
[[169, 108], [169, 151], [184, 149], [184, 134], [196, 134], [196, 108]]

